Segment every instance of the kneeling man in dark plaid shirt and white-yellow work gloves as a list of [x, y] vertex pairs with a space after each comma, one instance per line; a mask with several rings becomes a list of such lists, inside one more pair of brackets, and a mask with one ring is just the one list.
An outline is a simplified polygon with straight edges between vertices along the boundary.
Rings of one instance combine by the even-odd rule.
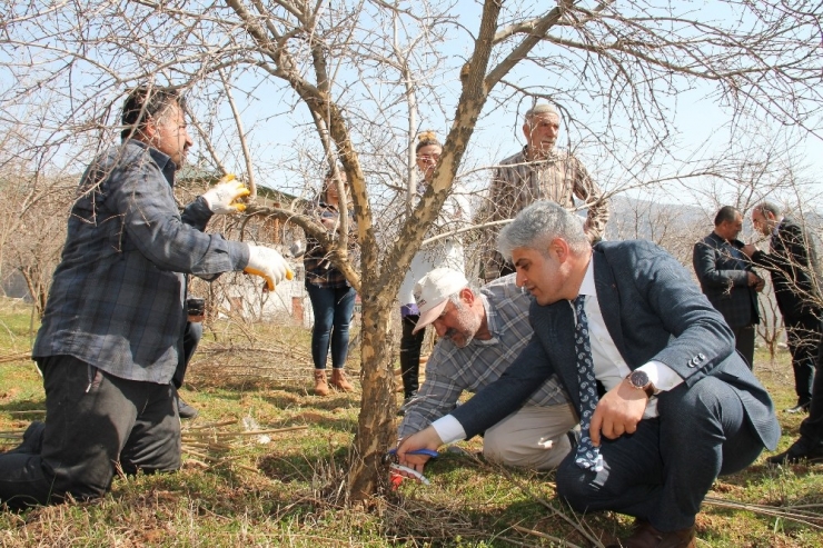
[[0, 501], [10, 507], [91, 499], [127, 474], [180, 466], [170, 383], [182, 352], [186, 275], [245, 270], [269, 289], [289, 276], [274, 249], [202, 232], [214, 213], [241, 210], [239, 181], [207, 191], [180, 215], [175, 171], [192, 141], [178, 90], [133, 90], [122, 143], [83, 175], [32, 357], [43, 376], [46, 421], [0, 455]]

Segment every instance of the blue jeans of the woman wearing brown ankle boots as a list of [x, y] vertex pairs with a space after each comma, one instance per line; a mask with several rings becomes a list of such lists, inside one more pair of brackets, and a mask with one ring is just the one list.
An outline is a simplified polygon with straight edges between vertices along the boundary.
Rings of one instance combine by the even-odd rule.
[[329, 342], [331, 367], [339, 369], [348, 357], [348, 327], [355, 311], [357, 292], [350, 287], [318, 287], [306, 283], [306, 290], [315, 312], [311, 329], [311, 359], [315, 369], [326, 369]]

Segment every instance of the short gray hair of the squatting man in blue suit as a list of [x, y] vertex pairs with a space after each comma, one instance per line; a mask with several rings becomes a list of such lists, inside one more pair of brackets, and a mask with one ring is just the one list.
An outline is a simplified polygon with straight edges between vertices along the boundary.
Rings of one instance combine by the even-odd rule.
[[509, 260], [516, 248], [531, 248], [546, 253], [549, 242], [555, 238], [566, 240], [575, 253], [582, 253], [591, 246], [583, 231], [583, 219], [556, 202], [536, 201], [500, 230], [497, 250]]

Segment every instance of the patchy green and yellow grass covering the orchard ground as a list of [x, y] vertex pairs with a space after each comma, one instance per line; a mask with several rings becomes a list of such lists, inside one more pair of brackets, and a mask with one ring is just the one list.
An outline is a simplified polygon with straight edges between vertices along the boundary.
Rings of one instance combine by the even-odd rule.
[[[187, 376], [184, 398], [200, 417], [184, 425], [187, 451], [177, 474], [116, 478], [99, 501], [0, 512], [0, 546], [597, 546], [628, 530], [631, 518], [581, 516], [554, 498], [551, 474], [507, 470], [472, 455], [445, 452], [427, 468], [429, 487], [404, 482], [375, 496], [368, 509], [346, 507], [341, 485], [357, 424], [358, 393], [309, 393], [308, 335], [284, 326], [221, 322], [207, 330]], [[0, 302], [0, 449], [19, 440], [43, 409], [32, 362], [30, 310]], [[357, 378], [357, 359], [349, 372]], [[757, 355], [757, 375], [777, 409], [794, 403], [787, 355]], [[780, 450], [802, 417], [780, 412]], [[244, 435], [259, 429], [305, 427]], [[221, 425], [221, 426], [214, 426]], [[191, 444], [199, 444], [192, 447]], [[197, 454], [197, 455], [195, 455]], [[698, 516], [698, 547], [823, 545], [823, 468], [770, 468], [761, 458], [715, 482]], [[766, 515], [799, 515], [807, 524]], [[809, 518], [801, 516], [811, 515]], [[584, 535], [582, 531], [587, 531]]]

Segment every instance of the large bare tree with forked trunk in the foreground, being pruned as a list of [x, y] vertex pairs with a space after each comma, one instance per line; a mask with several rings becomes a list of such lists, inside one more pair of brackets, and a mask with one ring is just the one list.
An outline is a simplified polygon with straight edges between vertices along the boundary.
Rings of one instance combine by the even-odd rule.
[[[609, 195], [690, 173], [703, 180], [704, 171], [680, 158], [670, 114], [678, 92], [696, 86], [733, 123], [757, 117], [820, 136], [816, 4], [744, 0], [714, 2], [710, 11], [572, 0], [27, 3], [0, 22], [2, 81], [17, 82], [0, 98], [14, 122], [30, 104], [56, 106], [34, 148], [65, 151], [83, 136], [113, 136], [108, 112], [125, 88], [170, 81], [195, 91], [206, 163], [277, 182], [339, 161], [353, 189], [359, 265], [305, 216], [250, 212], [316, 236], [360, 292], [364, 393], [346, 492], [364, 500], [381, 484], [383, 456], [395, 441], [394, 298], [462, 166], [485, 158], [488, 167], [473, 148], [478, 127], [514, 140], [515, 112], [538, 99], [555, 102], [569, 148], [601, 160], [595, 177], [608, 176], [601, 180]], [[483, 127], [497, 112], [510, 114], [510, 132]], [[380, 213], [395, 190], [410, 188], [418, 123], [448, 123], [443, 155], [423, 199], [387, 240]], [[272, 124], [292, 131], [279, 153], [266, 132]], [[733, 178], [725, 173], [722, 180]], [[346, 231], [345, 216], [343, 223]]]

